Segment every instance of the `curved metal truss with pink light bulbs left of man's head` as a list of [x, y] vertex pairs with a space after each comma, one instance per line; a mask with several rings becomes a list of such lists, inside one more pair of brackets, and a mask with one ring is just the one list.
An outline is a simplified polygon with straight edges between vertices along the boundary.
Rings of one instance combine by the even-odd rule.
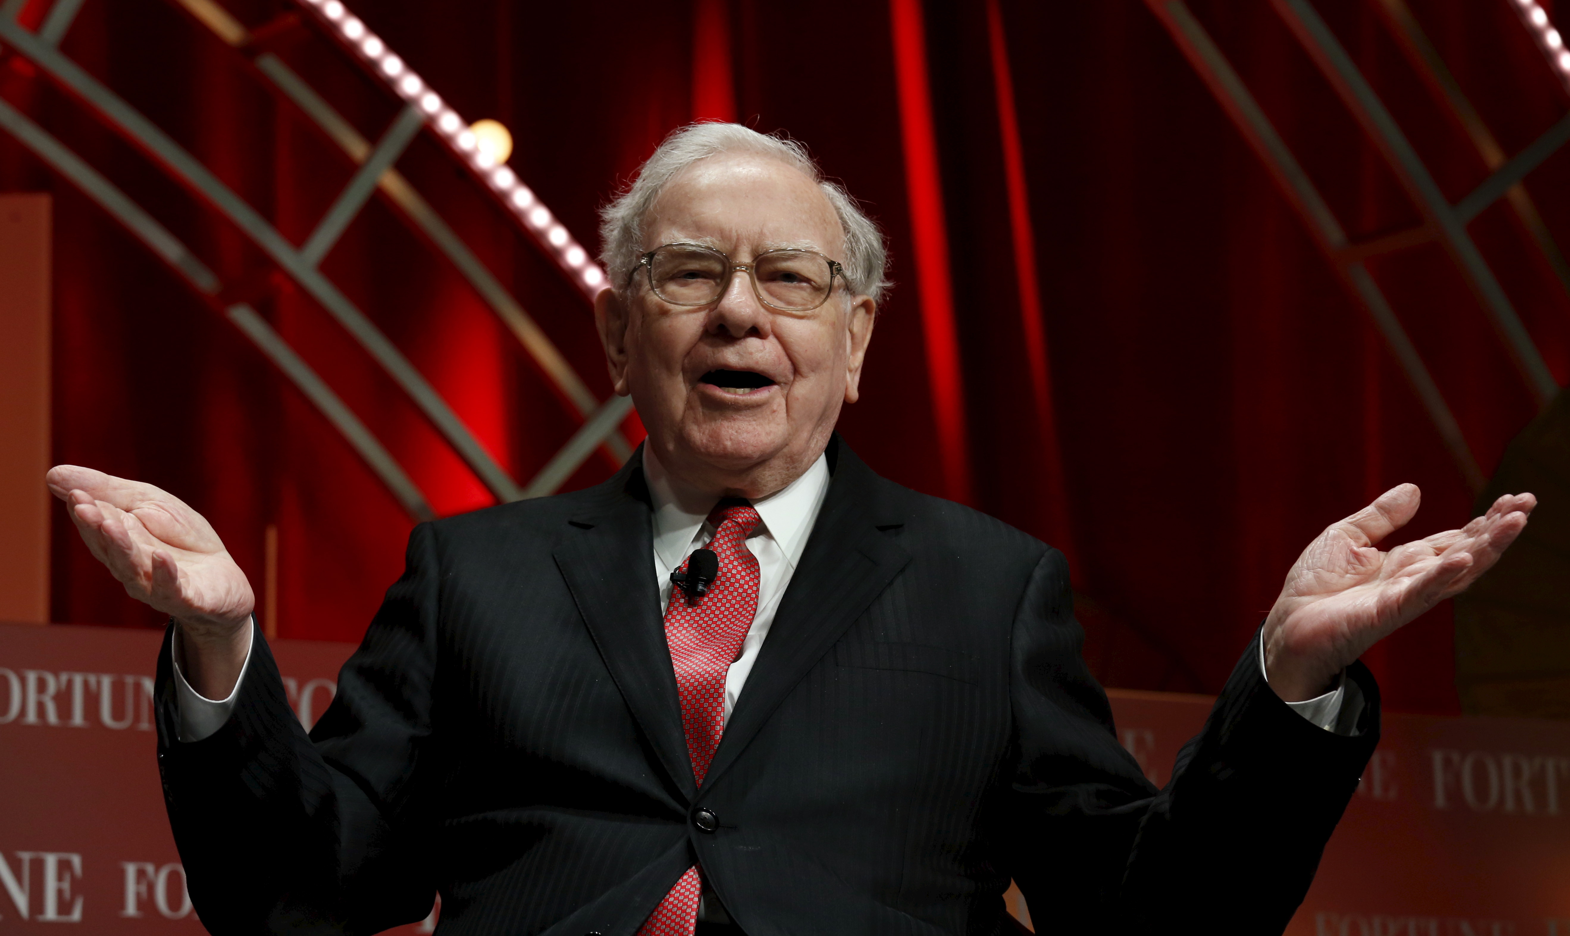
[[[364, 22], [356, 19], [339, 0], [298, 0], [300, 13], [286, 14], [287, 22], [281, 24], [283, 27], [298, 25], [301, 19], [319, 24], [336, 39], [338, 47], [382, 82], [389, 94], [405, 101], [402, 110], [382, 132], [380, 140], [371, 143], [281, 58], [253, 42], [253, 33], [214, 0], [170, 2], [210, 30], [236, 55], [245, 57], [248, 68], [259, 80], [268, 85], [281, 101], [297, 107], [344, 152], [345, 159], [358, 166], [305, 243], [294, 245], [284, 239], [261, 212], [228, 188], [188, 151], [60, 52], [60, 41], [69, 31], [83, 0], [55, 0], [36, 31], [22, 27], [17, 20], [27, 0], [0, 2], [0, 47], [22, 55], [50, 82], [78, 101], [99, 122], [124, 137], [146, 154], [160, 171], [195, 193], [207, 210], [223, 217], [261, 248], [279, 272], [312, 297], [399, 385], [498, 501], [554, 493], [600, 446], [604, 446], [619, 462], [630, 455], [631, 448], [620, 433], [620, 426], [631, 410], [631, 400], [615, 396], [604, 402], [595, 399], [521, 303], [480, 262], [463, 239], [443, 221], [414, 185], [397, 171], [397, 159], [422, 129], [429, 129], [443, 141], [452, 159], [458, 160], [476, 182], [490, 192], [509, 217], [557, 262], [586, 297], [592, 297], [601, 287], [604, 273], [512, 170], [495, 165], [491, 157], [476, 146], [474, 133], [468, 130], [468, 124], [419, 75], [408, 69], [386, 47], [385, 41], [371, 33]], [[0, 127], [124, 225], [157, 258], [179, 273], [209, 306], [232, 322], [338, 429], [410, 517], [416, 520], [435, 517], [425, 495], [364, 422], [333, 393], [327, 380], [251, 305], [225, 302], [225, 284], [218, 275], [160, 225], [152, 214], [5, 101], [0, 101]], [[333, 250], [344, 229], [360, 215], [377, 190], [424, 234], [425, 242], [433, 247], [440, 258], [458, 270], [518, 339], [529, 358], [565, 400], [565, 405], [584, 421], [582, 427], [567, 440], [528, 485], [517, 484], [496, 463], [410, 360], [322, 273], [322, 259]]]

